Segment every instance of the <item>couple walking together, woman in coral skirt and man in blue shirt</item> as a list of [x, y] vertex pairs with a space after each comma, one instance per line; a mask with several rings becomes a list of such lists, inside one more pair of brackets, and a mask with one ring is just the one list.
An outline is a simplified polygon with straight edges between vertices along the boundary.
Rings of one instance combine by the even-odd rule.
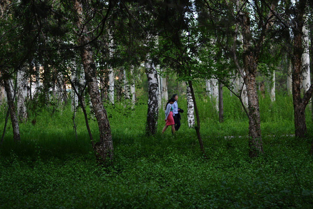
[[180, 126], [180, 115], [178, 112], [183, 112], [182, 109], [178, 108], [177, 105], [178, 95], [173, 94], [173, 97], [168, 100], [165, 105], [165, 119], [166, 121], [164, 128], [162, 129], [162, 134], [167, 129], [168, 126], [172, 127], [172, 133], [175, 133]]

